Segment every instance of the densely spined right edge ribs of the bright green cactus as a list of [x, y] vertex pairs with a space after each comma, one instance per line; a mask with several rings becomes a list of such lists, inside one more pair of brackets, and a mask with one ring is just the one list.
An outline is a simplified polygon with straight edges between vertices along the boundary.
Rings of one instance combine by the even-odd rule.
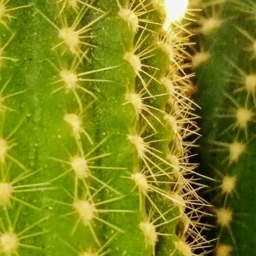
[[[186, 10], [186, 1], [180, 5], [185, 6]], [[162, 19], [158, 21], [160, 24], [141, 19], [142, 15], [152, 12], [154, 8], [162, 14]], [[147, 5], [146, 1], [138, 5], [132, 2], [126, 6], [119, 3], [119, 9], [120, 17], [137, 33], [134, 47], [125, 52], [124, 59], [137, 75], [135, 88], [128, 89], [125, 104], [131, 104], [137, 114], [136, 125], [130, 129], [132, 133], [128, 135], [128, 140], [135, 146], [140, 158], [139, 167], [136, 164], [129, 177], [135, 182], [140, 195], [140, 211], [144, 218], [140, 222], [140, 229], [146, 244], [152, 246], [153, 254], [157, 241], [160, 241], [159, 255], [167, 255], [172, 243], [172, 255], [203, 255], [210, 247], [201, 235], [206, 225], [201, 223], [199, 217], [204, 215], [206, 201], [197, 192], [204, 186], [195, 177], [197, 164], [189, 162], [191, 148], [196, 146], [199, 136], [196, 125], [198, 116], [193, 113], [197, 106], [189, 98], [193, 90], [190, 80], [193, 74], [186, 74], [188, 63], [184, 61], [191, 57], [186, 48], [191, 44], [189, 39], [192, 34], [186, 29], [188, 24], [179, 16], [179, 10], [171, 3], [153, 1], [152, 6]], [[192, 10], [188, 10], [186, 15], [187, 20], [192, 20]], [[154, 55], [157, 57], [153, 63], [158, 61], [161, 66], [144, 61]], [[151, 105], [151, 99], [160, 97], [163, 97], [162, 102], [156, 101], [153, 103], [156, 105]], [[163, 145], [159, 151], [155, 143], [161, 141]], [[162, 206], [158, 206], [159, 203]], [[178, 212], [175, 214], [178, 215], [170, 212], [171, 205], [176, 207]], [[161, 220], [160, 224], [156, 225], [156, 220]], [[173, 221], [175, 225], [171, 224]], [[172, 225], [177, 240], [173, 239], [172, 233], [167, 233], [168, 225]], [[157, 233], [157, 227], [161, 227], [162, 233]], [[165, 238], [161, 239], [161, 236]]]

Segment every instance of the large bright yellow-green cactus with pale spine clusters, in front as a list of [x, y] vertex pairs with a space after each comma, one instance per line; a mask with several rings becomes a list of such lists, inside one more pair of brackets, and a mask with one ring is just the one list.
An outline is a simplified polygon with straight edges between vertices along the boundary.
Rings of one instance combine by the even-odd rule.
[[190, 34], [163, 1], [127, 3], [138, 24], [116, 0], [0, 2], [0, 255], [207, 253]]

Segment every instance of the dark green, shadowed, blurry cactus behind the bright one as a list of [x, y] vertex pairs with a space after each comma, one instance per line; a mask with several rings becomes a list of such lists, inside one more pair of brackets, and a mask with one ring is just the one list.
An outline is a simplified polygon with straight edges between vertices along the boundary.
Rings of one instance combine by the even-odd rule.
[[256, 250], [256, 2], [216, 2], [199, 5], [202, 20], [215, 13], [221, 21], [207, 33], [206, 22], [197, 29], [201, 56], [208, 55], [195, 65], [202, 117], [199, 161], [201, 172], [215, 179], [208, 194], [216, 215], [214, 255], [250, 255]]

